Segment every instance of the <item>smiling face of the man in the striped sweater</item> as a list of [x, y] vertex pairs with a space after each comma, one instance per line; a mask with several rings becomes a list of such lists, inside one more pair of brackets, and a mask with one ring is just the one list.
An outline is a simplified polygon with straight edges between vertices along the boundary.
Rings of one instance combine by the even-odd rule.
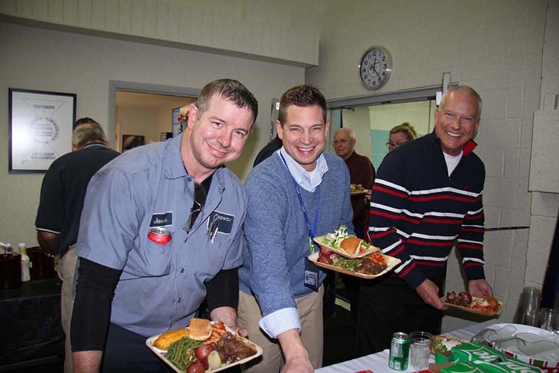
[[442, 151], [457, 156], [477, 133], [477, 99], [462, 92], [450, 92], [444, 107], [435, 110], [435, 133]]

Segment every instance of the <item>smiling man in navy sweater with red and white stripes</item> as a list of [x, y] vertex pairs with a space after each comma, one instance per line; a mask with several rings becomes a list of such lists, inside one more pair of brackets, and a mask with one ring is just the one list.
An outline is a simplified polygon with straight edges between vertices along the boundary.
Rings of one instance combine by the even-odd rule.
[[394, 332], [440, 333], [440, 289], [455, 243], [470, 293], [492, 295], [483, 267], [485, 168], [472, 152], [480, 115], [474, 89], [449, 89], [435, 111], [435, 131], [387, 154], [379, 167], [368, 237], [402, 262], [361, 286], [359, 355], [389, 348]]

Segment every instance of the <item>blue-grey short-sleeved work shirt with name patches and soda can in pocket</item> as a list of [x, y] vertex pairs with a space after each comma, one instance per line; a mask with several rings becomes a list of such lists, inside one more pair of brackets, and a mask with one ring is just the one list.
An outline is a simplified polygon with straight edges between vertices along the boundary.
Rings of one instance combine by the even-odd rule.
[[[76, 252], [122, 270], [110, 321], [140, 335], [187, 326], [205, 298], [204, 282], [242, 264], [247, 198], [238, 178], [218, 168], [194, 225], [187, 232], [194, 177], [182, 163], [182, 135], [131, 149], [89, 183]], [[218, 221], [208, 240], [210, 219]], [[162, 226], [170, 242], [147, 235]]]

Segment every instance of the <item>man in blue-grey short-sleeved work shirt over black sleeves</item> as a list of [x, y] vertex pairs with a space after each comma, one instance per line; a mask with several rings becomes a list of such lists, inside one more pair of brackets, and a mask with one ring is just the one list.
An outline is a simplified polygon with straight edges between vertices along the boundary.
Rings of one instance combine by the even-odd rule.
[[240, 82], [210, 82], [184, 133], [94, 175], [76, 249], [76, 371], [164, 368], [145, 339], [188, 326], [206, 296], [211, 319], [236, 328], [247, 199], [223, 165], [240, 156], [257, 114]]

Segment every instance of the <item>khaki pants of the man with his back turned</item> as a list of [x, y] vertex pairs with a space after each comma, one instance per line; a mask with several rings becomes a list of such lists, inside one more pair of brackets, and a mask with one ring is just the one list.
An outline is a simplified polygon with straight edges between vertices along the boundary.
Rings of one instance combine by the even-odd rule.
[[72, 321], [72, 309], [74, 300], [72, 298], [72, 286], [75, 274], [75, 265], [78, 263], [78, 256], [75, 249], [70, 247], [68, 252], [62, 256], [58, 263], [58, 277], [62, 280], [60, 295], [60, 310], [62, 319], [62, 330], [66, 335], [64, 343], [64, 373], [72, 372], [72, 346], [70, 344], [70, 324]]

